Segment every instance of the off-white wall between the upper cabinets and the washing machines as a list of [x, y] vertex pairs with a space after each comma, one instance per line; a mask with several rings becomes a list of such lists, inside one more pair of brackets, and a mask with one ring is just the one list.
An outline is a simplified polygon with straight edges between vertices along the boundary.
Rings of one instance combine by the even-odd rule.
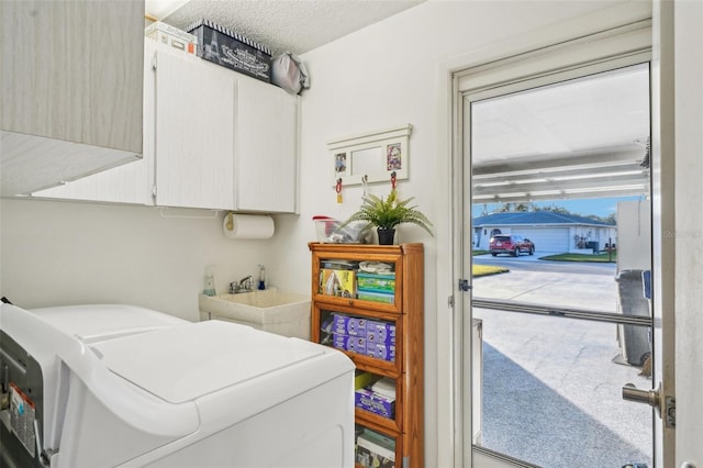
[[7, 199], [0, 210], [1, 291], [24, 308], [116, 302], [197, 321], [207, 267], [226, 292], [274, 261], [271, 239], [227, 239], [224, 214], [207, 210], [164, 218], [148, 207]]

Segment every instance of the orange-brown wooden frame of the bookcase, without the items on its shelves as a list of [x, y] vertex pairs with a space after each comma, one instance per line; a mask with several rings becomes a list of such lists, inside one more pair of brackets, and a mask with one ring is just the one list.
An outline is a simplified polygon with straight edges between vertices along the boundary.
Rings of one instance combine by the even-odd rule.
[[[422, 244], [358, 245], [310, 243], [312, 254], [311, 339], [324, 342], [322, 323], [343, 314], [379, 320], [395, 325], [395, 358], [384, 360], [343, 350], [357, 369], [395, 381], [394, 419], [355, 410], [357, 426], [367, 427], [395, 441], [395, 466], [424, 466], [424, 247]], [[323, 293], [321, 270], [331, 261], [357, 266], [379, 261], [394, 267], [393, 303]], [[355, 279], [356, 282], [356, 279]], [[325, 342], [324, 344], [332, 345]], [[357, 464], [357, 467], [360, 465]]]

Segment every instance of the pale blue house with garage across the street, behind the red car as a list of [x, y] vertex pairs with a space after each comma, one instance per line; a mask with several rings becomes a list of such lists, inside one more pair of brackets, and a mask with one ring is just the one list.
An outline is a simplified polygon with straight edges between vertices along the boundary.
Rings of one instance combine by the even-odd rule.
[[591, 254], [617, 243], [615, 224], [554, 211], [502, 212], [473, 219], [473, 248], [488, 250], [495, 234], [522, 235], [537, 252]]

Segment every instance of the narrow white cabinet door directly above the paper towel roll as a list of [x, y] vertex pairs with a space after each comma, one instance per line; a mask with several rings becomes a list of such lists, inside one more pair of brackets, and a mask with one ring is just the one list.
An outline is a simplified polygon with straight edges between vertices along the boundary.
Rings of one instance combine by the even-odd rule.
[[236, 109], [236, 208], [295, 212], [298, 98], [241, 77]]

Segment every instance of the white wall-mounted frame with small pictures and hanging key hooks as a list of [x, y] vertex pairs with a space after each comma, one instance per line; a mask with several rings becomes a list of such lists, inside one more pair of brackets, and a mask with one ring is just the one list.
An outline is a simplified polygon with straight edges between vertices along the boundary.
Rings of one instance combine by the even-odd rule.
[[410, 168], [410, 134], [412, 125], [369, 132], [327, 142], [333, 159], [333, 185], [342, 179], [345, 186], [408, 179]]

